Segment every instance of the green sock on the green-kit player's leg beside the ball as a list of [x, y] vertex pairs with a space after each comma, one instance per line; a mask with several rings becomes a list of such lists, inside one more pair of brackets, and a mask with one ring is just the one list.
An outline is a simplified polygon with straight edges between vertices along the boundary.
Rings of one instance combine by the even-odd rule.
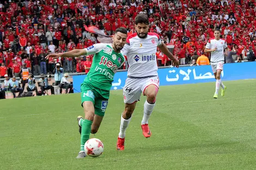
[[92, 129], [92, 121], [89, 121], [87, 119], [84, 119], [81, 123], [81, 148], [80, 151], [84, 151], [84, 143], [86, 143], [86, 141], [88, 141], [89, 137], [90, 137], [90, 130]]

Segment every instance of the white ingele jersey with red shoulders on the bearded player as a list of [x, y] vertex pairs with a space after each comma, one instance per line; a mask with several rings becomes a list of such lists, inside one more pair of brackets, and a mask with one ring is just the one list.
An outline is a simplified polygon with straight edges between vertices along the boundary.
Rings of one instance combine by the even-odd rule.
[[137, 33], [129, 35], [126, 45], [121, 50], [121, 53], [126, 55], [129, 64], [127, 76], [157, 76], [156, 50], [161, 43], [161, 38], [156, 33], [148, 33], [145, 39], [138, 37]]

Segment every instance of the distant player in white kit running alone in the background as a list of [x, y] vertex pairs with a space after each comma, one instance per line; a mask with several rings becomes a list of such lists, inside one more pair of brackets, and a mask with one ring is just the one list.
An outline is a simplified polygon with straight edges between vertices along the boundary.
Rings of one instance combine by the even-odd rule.
[[220, 90], [220, 86], [222, 87], [221, 96], [224, 96], [226, 86], [222, 83], [221, 80], [221, 72], [223, 71], [224, 65], [224, 48], [225, 53], [229, 51], [227, 42], [220, 38], [221, 33], [220, 30], [215, 29], [214, 31], [214, 39], [210, 39], [205, 46], [204, 52], [211, 53], [211, 68], [212, 72], [214, 72], [216, 79], [216, 90], [214, 93], [214, 98], [218, 98], [218, 91]]

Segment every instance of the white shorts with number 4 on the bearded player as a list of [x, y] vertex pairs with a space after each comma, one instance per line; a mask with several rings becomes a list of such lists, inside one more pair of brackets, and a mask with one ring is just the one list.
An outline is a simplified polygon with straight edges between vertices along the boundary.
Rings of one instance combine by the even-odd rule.
[[159, 88], [159, 77], [149, 77], [149, 78], [127, 78], [125, 81], [123, 95], [124, 95], [124, 103], [132, 104], [141, 99], [141, 93], [149, 86], [155, 85]]

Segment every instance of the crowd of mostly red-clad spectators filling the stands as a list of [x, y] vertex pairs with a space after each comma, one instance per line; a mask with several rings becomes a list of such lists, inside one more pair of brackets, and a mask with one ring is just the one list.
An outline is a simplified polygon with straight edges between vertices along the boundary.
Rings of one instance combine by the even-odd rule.
[[[204, 46], [214, 37], [215, 28], [227, 41], [230, 62], [253, 61], [254, 0], [9, 0], [0, 4], [1, 77], [21, 77], [22, 67], [34, 75], [53, 73], [57, 63], [65, 72], [88, 72], [92, 56], [54, 60], [45, 60], [45, 56], [97, 43], [97, 35], [87, 32], [84, 26], [95, 26], [107, 35], [118, 27], [134, 33], [134, 19], [139, 12], [149, 16], [149, 32], [158, 33], [164, 43], [173, 46], [182, 65], [200, 65], [199, 56], [209, 57], [203, 52]], [[157, 64], [171, 63], [157, 52]], [[122, 68], [127, 67], [125, 63]]]

